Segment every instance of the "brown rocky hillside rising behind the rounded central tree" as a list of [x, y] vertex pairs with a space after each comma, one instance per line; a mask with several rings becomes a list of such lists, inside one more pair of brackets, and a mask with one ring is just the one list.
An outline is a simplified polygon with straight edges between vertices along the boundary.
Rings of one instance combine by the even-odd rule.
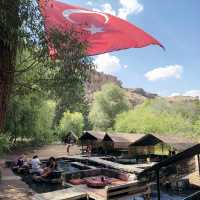
[[[94, 92], [99, 91], [106, 83], [115, 83], [122, 87], [122, 82], [117, 77], [96, 71], [92, 72], [90, 80], [86, 83], [86, 97], [89, 102], [92, 101]], [[158, 96], [157, 94], [148, 93], [142, 88], [124, 88], [124, 90], [133, 106], [143, 103], [145, 99]]]

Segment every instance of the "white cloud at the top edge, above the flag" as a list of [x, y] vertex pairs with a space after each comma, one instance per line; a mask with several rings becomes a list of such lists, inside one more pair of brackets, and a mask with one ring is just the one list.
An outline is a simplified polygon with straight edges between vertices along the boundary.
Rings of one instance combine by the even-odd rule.
[[121, 8], [118, 9], [118, 17], [127, 19], [130, 14], [138, 14], [144, 7], [138, 0], [120, 0]]

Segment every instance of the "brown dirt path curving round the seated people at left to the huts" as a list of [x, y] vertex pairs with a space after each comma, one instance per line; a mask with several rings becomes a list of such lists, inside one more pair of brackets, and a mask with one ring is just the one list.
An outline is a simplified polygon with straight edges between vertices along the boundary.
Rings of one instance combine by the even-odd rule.
[[[15, 160], [24, 153], [28, 159], [33, 155], [40, 158], [64, 157], [67, 155], [66, 147], [62, 144], [47, 145], [37, 149], [26, 149], [23, 152], [14, 152], [0, 158], [0, 169], [2, 170], [2, 182], [0, 183], [0, 200], [31, 200], [34, 192], [18, 176], [5, 167], [6, 160]], [[70, 148], [70, 155], [80, 154], [80, 147], [74, 145]]]

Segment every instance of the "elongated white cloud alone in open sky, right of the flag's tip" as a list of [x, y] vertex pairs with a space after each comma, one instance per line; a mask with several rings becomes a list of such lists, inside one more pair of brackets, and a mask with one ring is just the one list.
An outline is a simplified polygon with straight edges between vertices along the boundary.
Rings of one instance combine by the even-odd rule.
[[165, 80], [168, 78], [180, 79], [183, 72], [181, 65], [168, 65], [166, 67], [158, 67], [145, 74], [149, 81]]

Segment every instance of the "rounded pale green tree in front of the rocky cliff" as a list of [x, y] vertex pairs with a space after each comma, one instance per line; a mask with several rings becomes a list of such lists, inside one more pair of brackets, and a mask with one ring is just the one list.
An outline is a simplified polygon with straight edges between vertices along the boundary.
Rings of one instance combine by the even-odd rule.
[[129, 107], [124, 90], [113, 83], [106, 84], [94, 94], [89, 119], [95, 129], [106, 130], [112, 128], [115, 117]]

